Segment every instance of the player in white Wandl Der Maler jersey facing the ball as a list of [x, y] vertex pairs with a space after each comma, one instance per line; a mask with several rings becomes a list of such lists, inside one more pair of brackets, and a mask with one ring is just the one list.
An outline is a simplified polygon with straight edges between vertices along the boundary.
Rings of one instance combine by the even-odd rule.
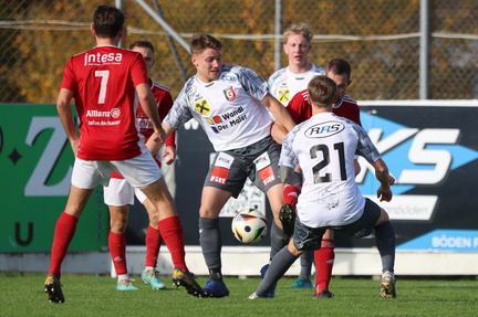
[[221, 49], [214, 36], [195, 34], [190, 51], [197, 74], [186, 82], [163, 121], [169, 134], [195, 118], [217, 152], [199, 209], [199, 242], [210, 276], [204, 290], [210, 297], [229, 295], [221, 273], [218, 216], [229, 198], [238, 197], [247, 178], [266, 192], [273, 212], [271, 257], [285, 244], [278, 218], [283, 204], [278, 175], [280, 146], [270, 136], [268, 109], [288, 130], [295, 126], [288, 110], [269, 94], [264, 80], [252, 70], [222, 65]]

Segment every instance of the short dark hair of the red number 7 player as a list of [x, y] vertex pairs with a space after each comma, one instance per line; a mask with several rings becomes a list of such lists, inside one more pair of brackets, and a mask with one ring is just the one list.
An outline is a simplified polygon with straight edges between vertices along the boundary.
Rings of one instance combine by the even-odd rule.
[[98, 38], [115, 38], [123, 29], [126, 17], [112, 6], [100, 6], [93, 13], [93, 29]]

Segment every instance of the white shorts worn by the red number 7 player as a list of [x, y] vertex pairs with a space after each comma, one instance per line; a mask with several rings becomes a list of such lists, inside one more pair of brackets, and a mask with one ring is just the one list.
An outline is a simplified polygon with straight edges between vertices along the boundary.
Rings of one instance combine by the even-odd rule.
[[134, 188], [143, 189], [163, 175], [153, 156], [145, 151], [127, 160], [82, 160], [75, 158], [72, 184], [82, 189], [107, 186], [111, 173], [116, 170]]

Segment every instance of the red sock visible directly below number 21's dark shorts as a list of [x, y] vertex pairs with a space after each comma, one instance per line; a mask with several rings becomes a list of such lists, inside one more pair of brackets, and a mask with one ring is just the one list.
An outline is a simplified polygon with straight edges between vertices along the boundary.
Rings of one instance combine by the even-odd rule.
[[324, 288], [329, 288], [332, 278], [332, 267], [335, 258], [335, 245], [333, 240], [322, 240], [321, 249], [315, 250], [315, 289], [320, 293]]

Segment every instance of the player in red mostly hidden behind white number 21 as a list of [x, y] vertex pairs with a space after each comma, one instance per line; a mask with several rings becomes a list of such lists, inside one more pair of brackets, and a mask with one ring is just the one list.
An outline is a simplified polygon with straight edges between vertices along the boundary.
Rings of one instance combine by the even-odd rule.
[[[345, 60], [334, 59], [329, 62], [326, 67], [326, 76], [332, 78], [337, 85], [336, 98], [333, 104], [333, 113], [337, 116], [352, 119], [358, 125], [360, 120], [360, 108], [357, 103], [345, 95], [349, 85], [351, 84], [351, 73], [352, 68]], [[287, 109], [289, 110], [291, 117], [297, 124], [303, 123], [312, 116], [312, 107], [309, 102], [309, 91], [304, 89], [297, 93], [291, 102], [289, 103]], [[272, 127], [272, 136], [276, 141], [282, 144], [285, 137], [285, 129], [283, 129], [280, 124], [274, 124]], [[355, 175], [360, 171], [360, 166], [356, 160], [354, 160]], [[289, 225], [284, 225], [284, 231], [288, 236], [291, 236], [293, 231], [293, 216], [298, 197], [301, 192], [302, 182], [299, 175], [297, 175], [295, 183], [285, 183], [283, 198], [284, 207], [281, 210], [281, 215], [290, 215]], [[287, 218], [288, 219], [288, 218]], [[332, 267], [335, 258], [333, 243], [333, 231], [326, 230], [323, 239], [321, 249], [314, 252], [315, 261], [315, 296], [318, 297], [332, 297], [333, 294], [329, 290], [329, 284], [332, 278]]]

